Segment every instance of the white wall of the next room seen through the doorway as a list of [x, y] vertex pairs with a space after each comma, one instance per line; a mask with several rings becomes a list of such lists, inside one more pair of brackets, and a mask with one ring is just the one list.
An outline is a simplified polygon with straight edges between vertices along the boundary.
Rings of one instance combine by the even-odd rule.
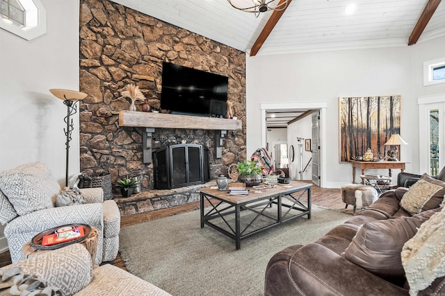
[[[302, 139], [298, 141], [297, 137]], [[305, 139], [311, 139], [311, 137], [312, 116], [306, 116], [287, 126], [287, 143], [289, 147], [293, 145], [293, 150], [295, 151], [293, 162], [289, 163], [289, 174], [292, 180], [301, 180], [300, 163], [302, 164], [301, 168], [304, 169], [312, 157], [312, 153], [305, 150]], [[302, 162], [300, 162], [300, 146], [298, 146], [298, 144], [302, 144]], [[303, 173], [302, 180], [312, 180], [311, 164], [307, 167], [306, 172]]]

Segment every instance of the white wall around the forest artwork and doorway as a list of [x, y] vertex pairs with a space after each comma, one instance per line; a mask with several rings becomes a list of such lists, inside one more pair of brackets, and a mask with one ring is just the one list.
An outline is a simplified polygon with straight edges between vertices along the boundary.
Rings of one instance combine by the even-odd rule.
[[[339, 96], [402, 96], [401, 147], [406, 171], [419, 170], [417, 97], [445, 93], [445, 85], [423, 87], [423, 62], [445, 55], [445, 37], [414, 46], [257, 55], [246, 61], [247, 154], [261, 144], [260, 104], [327, 101], [325, 187], [351, 182], [348, 163], [339, 163]], [[396, 175], [397, 172], [394, 172]]]

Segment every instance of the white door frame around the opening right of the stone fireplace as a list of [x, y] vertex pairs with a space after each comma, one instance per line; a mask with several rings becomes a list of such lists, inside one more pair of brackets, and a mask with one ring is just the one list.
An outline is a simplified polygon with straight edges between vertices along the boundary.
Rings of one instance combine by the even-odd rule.
[[285, 102], [285, 103], [261, 103], [261, 147], [266, 147], [267, 138], [267, 126], [266, 126], [266, 110], [320, 110], [320, 162], [321, 162], [321, 170], [320, 170], [320, 186], [324, 187], [326, 182], [326, 110], [327, 110], [327, 101], [314, 101], [314, 102]]

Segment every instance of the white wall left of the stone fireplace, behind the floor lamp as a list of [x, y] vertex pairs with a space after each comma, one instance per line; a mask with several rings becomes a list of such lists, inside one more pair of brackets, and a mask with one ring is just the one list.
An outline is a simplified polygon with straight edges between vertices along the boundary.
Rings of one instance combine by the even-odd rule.
[[[0, 171], [43, 162], [65, 183], [67, 107], [48, 89], [79, 89], [79, 0], [42, 0], [47, 33], [26, 41], [0, 30]], [[70, 173], [79, 172], [79, 116]], [[3, 237], [3, 227], [0, 229]], [[0, 250], [6, 240], [0, 238]]]

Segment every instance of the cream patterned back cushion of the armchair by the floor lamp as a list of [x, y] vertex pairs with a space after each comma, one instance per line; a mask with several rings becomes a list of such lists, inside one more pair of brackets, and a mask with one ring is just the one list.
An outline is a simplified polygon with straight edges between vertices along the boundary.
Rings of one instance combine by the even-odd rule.
[[0, 173], [0, 190], [23, 216], [54, 207], [52, 198], [56, 198], [60, 186], [47, 166], [33, 162]]

